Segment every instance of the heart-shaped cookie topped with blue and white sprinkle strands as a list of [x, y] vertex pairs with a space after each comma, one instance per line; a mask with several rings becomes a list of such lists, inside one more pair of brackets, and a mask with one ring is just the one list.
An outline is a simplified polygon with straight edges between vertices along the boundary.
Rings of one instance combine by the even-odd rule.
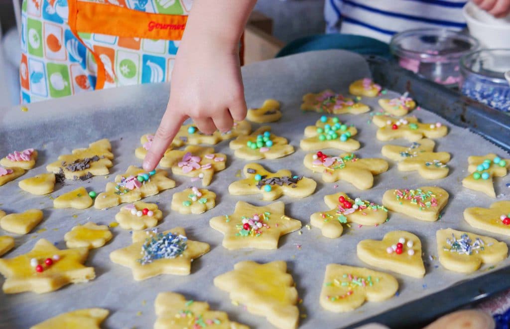
[[481, 264], [496, 264], [506, 259], [506, 243], [496, 239], [452, 229], [436, 232], [439, 262], [454, 272], [472, 273]]

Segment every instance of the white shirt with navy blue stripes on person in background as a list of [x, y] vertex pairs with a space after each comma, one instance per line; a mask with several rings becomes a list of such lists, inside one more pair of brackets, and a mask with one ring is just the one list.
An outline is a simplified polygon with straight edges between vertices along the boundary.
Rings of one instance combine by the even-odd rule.
[[466, 0], [325, 0], [327, 33], [365, 35], [388, 42], [395, 33], [418, 28], [466, 27]]

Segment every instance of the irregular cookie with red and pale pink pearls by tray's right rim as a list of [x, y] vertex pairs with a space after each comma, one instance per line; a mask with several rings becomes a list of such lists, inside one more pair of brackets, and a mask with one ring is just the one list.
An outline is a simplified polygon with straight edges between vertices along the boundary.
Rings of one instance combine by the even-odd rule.
[[448, 134], [448, 128], [441, 122], [420, 123], [414, 116], [395, 119], [389, 115], [376, 115], [372, 122], [379, 127], [376, 137], [381, 141], [405, 138], [417, 142], [424, 137], [440, 138]]

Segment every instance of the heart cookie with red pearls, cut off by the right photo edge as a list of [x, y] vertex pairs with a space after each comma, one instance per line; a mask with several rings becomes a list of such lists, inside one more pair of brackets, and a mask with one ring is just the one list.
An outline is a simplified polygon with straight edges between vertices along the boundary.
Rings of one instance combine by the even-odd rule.
[[490, 208], [466, 208], [464, 219], [475, 229], [510, 236], [510, 201], [497, 201]]

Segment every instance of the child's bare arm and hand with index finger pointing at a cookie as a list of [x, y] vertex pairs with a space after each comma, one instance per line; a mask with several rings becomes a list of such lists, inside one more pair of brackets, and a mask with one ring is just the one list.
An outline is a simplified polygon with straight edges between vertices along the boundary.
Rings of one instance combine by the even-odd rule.
[[257, 0], [195, 0], [172, 71], [170, 100], [143, 168], [154, 169], [191, 117], [204, 134], [246, 116], [239, 40]]

